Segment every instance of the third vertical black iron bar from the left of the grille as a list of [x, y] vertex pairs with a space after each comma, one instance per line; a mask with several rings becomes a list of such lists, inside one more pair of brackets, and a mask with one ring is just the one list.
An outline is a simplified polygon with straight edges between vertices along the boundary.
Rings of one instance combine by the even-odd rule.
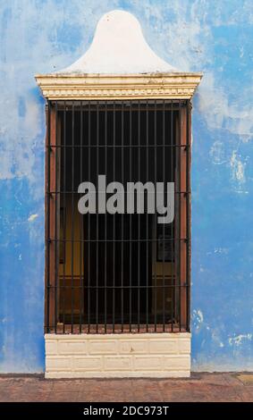
[[63, 333], [65, 332], [65, 294], [66, 294], [66, 101], [63, 105]]

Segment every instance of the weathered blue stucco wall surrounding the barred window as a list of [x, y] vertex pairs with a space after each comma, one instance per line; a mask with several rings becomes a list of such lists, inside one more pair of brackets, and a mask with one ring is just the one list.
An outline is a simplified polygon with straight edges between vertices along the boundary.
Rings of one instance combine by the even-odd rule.
[[44, 370], [44, 100], [98, 19], [137, 16], [149, 45], [204, 71], [194, 98], [192, 369], [253, 370], [251, 0], [9, 0], [1, 10], [0, 371]]

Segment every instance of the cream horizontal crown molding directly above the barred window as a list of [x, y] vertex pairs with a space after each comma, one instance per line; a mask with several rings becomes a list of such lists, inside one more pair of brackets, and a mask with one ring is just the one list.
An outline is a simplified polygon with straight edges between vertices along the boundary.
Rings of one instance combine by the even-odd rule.
[[35, 76], [49, 100], [190, 99], [202, 73], [46, 74]]

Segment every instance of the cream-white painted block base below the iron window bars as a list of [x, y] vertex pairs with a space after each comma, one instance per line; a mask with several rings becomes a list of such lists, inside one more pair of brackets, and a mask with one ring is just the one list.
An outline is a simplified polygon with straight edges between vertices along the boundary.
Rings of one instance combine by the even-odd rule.
[[189, 377], [190, 333], [46, 334], [46, 378]]

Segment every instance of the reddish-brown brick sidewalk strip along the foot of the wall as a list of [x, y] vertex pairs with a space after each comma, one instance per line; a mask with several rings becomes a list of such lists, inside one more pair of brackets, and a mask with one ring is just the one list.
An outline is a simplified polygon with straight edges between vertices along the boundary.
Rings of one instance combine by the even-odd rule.
[[253, 374], [192, 374], [190, 379], [45, 380], [0, 376], [0, 401], [253, 401]]

